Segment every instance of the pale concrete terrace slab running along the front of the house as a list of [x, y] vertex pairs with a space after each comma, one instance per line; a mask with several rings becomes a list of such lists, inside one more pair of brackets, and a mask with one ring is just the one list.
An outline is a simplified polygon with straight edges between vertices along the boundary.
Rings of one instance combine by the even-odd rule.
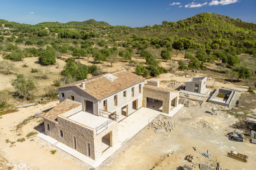
[[54, 144], [56, 147], [62, 149], [63, 151], [66, 151], [67, 153], [89, 164], [90, 166], [96, 168], [104, 160], [106, 160], [110, 155], [112, 155], [116, 150], [118, 150], [124, 143], [129, 141], [135, 134], [141, 131], [146, 125], [148, 125], [149, 122], [151, 122], [159, 114], [172, 117], [183, 106], [184, 106], [183, 104], [179, 104], [178, 107], [174, 107], [171, 110], [170, 114], [164, 114], [157, 110], [141, 107], [131, 115], [127, 116], [126, 118], [118, 122], [118, 134], [119, 134], [118, 143], [112, 147], [109, 147], [107, 150], [105, 150], [102, 153], [102, 155], [96, 160], [93, 160], [88, 156], [78, 152], [77, 150], [59, 142], [58, 140], [55, 140], [54, 138], [46, 135], [44, 132], [38, 134], [37, 136], [50, 142], [51, 144]]

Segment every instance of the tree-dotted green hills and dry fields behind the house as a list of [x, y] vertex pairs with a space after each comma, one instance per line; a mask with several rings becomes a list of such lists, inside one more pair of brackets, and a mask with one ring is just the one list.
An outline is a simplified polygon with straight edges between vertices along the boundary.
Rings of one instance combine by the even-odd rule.
[[[0, 91], [2, 108], [9, 98], [54, 98], [55, 86], [123, 67], [144, 77], [176, 69], [210, 70], [232, 83], [256, 87], [256, 24], [239, 18], [206, 12], [135, 28], [94, 19], [35, 25], [0, 19], [0, 24], [9, 28], [0, 31], [0, 73], [13, 87]], [[44, 94], [39, 84], [46, 86]]]

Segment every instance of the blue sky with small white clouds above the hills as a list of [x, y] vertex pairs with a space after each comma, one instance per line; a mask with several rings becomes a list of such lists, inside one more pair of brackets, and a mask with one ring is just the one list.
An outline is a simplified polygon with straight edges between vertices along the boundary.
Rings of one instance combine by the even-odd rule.
[[83, 21], [145, 26], [215, 12], [256, 23], [256, 0], [0, 0], [0, 18], [20, 23]]

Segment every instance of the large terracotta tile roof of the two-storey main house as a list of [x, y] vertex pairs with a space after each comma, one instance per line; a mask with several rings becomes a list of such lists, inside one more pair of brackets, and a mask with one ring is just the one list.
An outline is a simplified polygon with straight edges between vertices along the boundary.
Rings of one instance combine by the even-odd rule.
[[[77, 81], [71, 84], [61, 86], [59, 88], [67, 87], [67, 86], [76, 86], [82, 89], [83, 91], [85, 91], [86, 93], [92, 95], [97, 100], [99, 100], [115, 92], [118, 92], [122, 89], [125, 89], [129, 86], [132, 86], [134, 84], [137, 84], [145, 80], [145, 78], [127, 70], [121, 70], [121, 71], [115, 71], [115, 72], [109, 72], [109, 73], [116, 76], [117, 78], [113, 79], [113, 81], [110, 81], [104, 78], [102, 75], [98, 75], [98, 76], [88, 78], [86, 79], [86, 81], [84, 80]], [[85, 82], [85, 89], [81, 88], [81, 82]]]

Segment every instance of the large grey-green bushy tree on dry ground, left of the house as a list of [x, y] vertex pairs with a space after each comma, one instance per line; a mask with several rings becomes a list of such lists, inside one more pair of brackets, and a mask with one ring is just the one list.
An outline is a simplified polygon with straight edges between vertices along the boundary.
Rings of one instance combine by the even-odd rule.
[[31, 99], [36, 89], [35, 83], [31, 79], [26, 79], [23, 74], [17, 74], [12, 85], [16, 89], [16, 93], [26, 99]]

